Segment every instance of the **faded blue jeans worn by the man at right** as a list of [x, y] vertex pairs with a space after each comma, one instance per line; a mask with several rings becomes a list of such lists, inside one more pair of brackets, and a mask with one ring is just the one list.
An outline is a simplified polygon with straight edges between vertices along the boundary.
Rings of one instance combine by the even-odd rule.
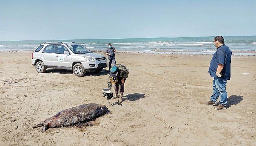
[[211, 96], [211, 101], [213, 103], [217, 103], [218, 97], [221, 96], [221, 98], [219, 99], [219, 104], [226, 106], [228, 101], [226, 84], [227, 84], [226, 79], [222, 79], [220, 77], [215, 77], [213, 79], [213, 93]]

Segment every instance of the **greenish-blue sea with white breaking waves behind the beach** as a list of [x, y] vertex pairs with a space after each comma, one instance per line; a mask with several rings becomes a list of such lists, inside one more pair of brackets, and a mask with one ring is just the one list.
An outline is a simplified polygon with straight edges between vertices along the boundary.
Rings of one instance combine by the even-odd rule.
[[[256, 36], [223, 36], [231, 51], [236, 55], [256, 55]], [[0, 41], [2, 51], [33, 51], [43, 42], [76, 42], [91, 51], [104, 51], [112, 43], [117, 52], [157, 54], [213, 54], [216, 48], [212, 37], [175, 38], [125, 38], [125, 39], [71, 39], [71, 40], [24, 40]], [[246, 51], [247, 53], [242, 53]], [[234, 54], [234, 53], [233, 53]]]

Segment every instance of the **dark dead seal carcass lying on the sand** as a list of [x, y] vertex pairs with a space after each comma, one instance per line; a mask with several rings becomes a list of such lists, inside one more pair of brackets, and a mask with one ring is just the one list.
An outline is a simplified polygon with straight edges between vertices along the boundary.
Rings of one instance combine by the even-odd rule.
[[58, 112], [56, 115], [47, 118], [32, 128], [42, 127], [45, 132], [48, 128], [71, 126], [78, 123], [93, 120], [108, 111], [105, 105], [85, 104]]

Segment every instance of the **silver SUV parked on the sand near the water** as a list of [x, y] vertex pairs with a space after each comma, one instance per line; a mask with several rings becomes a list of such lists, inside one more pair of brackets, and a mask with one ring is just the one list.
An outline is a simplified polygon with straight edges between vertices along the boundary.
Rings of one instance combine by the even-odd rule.
[[46, 68], [73, 70], [75, 76], [87, 71], [100, 72], [107, 67], [106, 57], [75, 42], [45, 42], [32, 53], [31, 63], [38, 73]]

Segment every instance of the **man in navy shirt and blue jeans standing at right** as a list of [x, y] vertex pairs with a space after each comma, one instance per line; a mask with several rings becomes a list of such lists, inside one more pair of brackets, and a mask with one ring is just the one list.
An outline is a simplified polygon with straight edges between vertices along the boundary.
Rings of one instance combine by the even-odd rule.
[[214, 109], [222, 110], [226, 109], [227, 104], [227, 91], [226, 83], [230, 80], [230, 67], [231, 67], [231, 54], [228, 46], [224, 43], [224, 38], [222, 36], [216, 36], [213, 39], [213, 44], [217, 48], [214, 53], [210, 67], [209, 73], [213, 77], [213, 94], [211, 100], [207, 102], [207, 105], [217, 105], [217, 99], [219, 99], [219, 105]]

